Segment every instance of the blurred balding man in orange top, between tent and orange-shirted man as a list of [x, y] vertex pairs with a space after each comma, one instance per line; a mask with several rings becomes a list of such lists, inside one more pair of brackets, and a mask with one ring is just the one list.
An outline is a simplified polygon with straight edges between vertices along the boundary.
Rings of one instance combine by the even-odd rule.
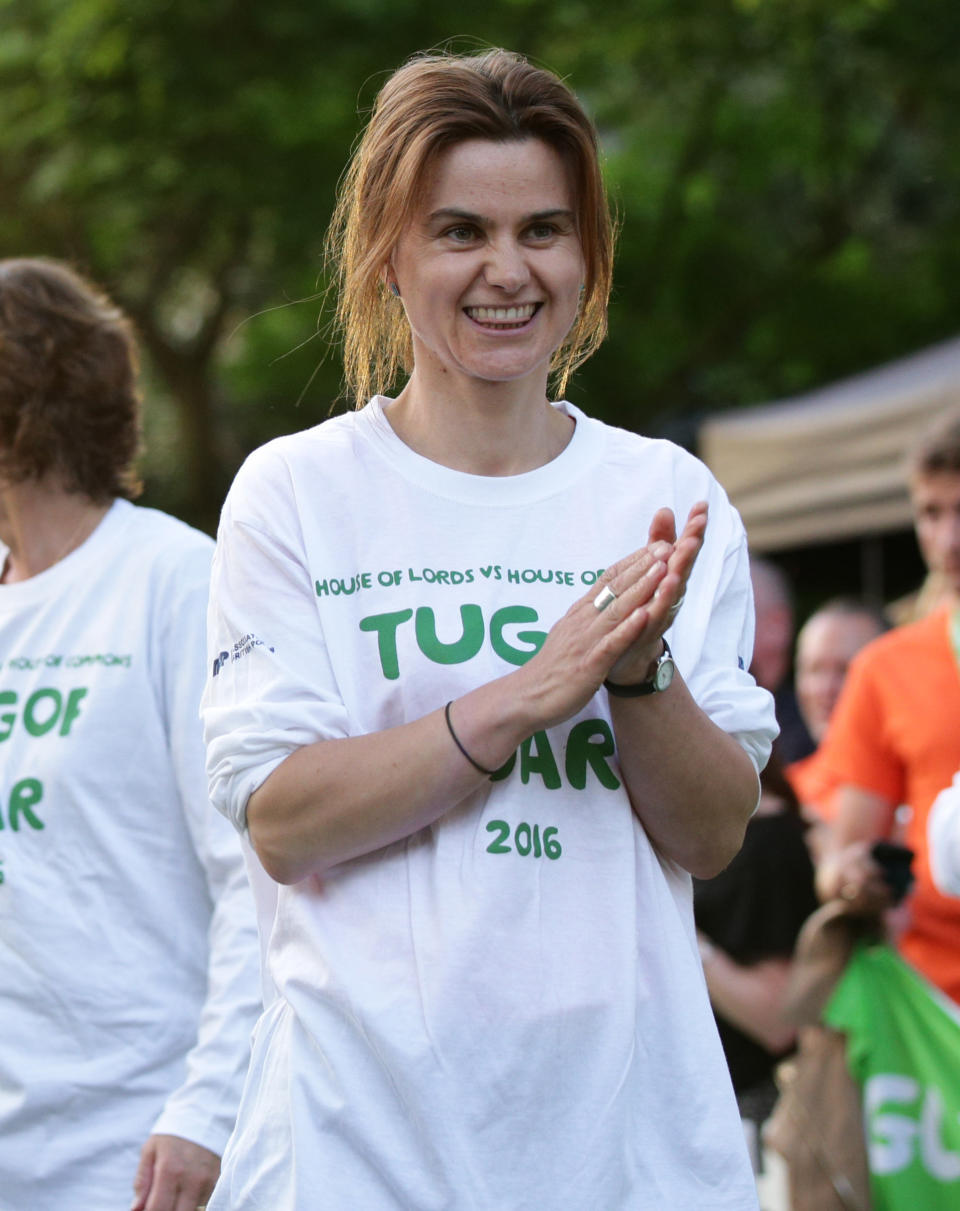
[[816, 609], [797, 636], [794, 681], [797, 705], [817, 745], [809, 757], [787, 765], [784, 774], [807, 820], [820, 826], [832, 819], [835, 779], [823, 764], [827, 724], [840, 698], [850, 661], [862, 647], [890, 630], [884, 615], [866, 602], [834, 597]]

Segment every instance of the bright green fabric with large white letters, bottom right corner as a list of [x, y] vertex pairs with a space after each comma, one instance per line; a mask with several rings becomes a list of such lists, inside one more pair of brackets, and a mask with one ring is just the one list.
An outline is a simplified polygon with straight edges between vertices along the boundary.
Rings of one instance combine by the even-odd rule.
[[863, 1090], [873, 1211], [958, 1211], [960, 1011], [889, 946], [862, 946], [823, 1017]]

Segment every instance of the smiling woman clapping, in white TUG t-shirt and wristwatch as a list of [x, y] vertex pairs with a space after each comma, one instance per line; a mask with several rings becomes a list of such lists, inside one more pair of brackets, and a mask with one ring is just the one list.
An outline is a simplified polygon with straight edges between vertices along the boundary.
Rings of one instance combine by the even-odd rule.
[[329, 249], [363, 406], [247, 460], [214, 561], [212, 796], [278, 886], [211, 1207], [753, 1207], [690, 873], [776, 724], [722, 489], [548, 402], [605, 333], [596, 133], [418, 56]]

